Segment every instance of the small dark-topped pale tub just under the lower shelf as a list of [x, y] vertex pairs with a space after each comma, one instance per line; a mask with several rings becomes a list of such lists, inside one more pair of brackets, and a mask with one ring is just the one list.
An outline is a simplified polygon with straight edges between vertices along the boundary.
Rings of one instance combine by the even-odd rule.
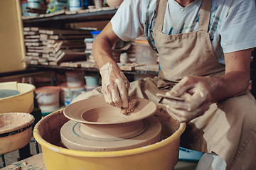
[[85, 86], [85, 72], [73, 71], [65, 72], [68, 87], [80, 87]]

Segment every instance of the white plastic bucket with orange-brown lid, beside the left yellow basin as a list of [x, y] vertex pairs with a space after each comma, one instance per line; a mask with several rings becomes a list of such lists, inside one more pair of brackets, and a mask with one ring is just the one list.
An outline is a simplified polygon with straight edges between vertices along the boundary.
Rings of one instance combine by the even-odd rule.
[[60, 88], [58, 86], [43, 86], [35, 91], [36, 101], [42, 114], [52, 113], [60, 107]]

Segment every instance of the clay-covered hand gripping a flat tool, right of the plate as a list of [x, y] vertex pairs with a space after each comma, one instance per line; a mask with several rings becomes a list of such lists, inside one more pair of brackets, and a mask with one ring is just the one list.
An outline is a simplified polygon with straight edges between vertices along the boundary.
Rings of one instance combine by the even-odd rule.
[[163, 103], [176, 120], [188, 122], [203, 115], [210, 107], [210, 81], [206, 77], [184, 77], [166, 96], [183, 99], [164, 98]]

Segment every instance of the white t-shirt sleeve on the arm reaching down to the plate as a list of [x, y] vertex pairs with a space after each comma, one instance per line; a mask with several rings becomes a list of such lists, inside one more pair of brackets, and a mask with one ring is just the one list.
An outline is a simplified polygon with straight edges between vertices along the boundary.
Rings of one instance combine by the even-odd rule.
[[142, 0], [124, 0], [111, 19], [114, 33], [121, 40], [134, 40], [144, 33], [140, 10], [142, 3], [139, 1]]

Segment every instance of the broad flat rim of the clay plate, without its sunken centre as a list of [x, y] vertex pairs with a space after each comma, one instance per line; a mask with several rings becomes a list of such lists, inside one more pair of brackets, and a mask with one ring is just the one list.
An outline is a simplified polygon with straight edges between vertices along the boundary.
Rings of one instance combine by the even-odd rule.
[[[64, 109], [63, 114], [66, 118], [70, 120], [75, 120], [79, 123], [94, 125], [114, 125], [121, 123], [131, 123], [137, 120], [142, 120], [144, 118], [149, 117], [150, 115], [153, 115], [156, 112], [156, 105], [152, 101], [149, 101], [145, 98], [134, 98], [137, 99], [137, 108], [135, 108], [134, 112], [130, 113], [129, 115], [123, 115], [122, 113], [120, 113], [119, 108], [111, 106], [110, 104], [106, 103], [105, 98], [103, 96], [87, 98], [81, 101], [76, 101], [75, 103], [71, 103]], [[90, 104], [86, 105], [86, 103]], [[83, 114], [95, 108], [105, 108], [106, 110], [111, 109], [112, 111], [115, 111], [117, 119], [112, 120], [111, 122], [96, 122], [85, 120], [84, 118], [82, 118]]]

